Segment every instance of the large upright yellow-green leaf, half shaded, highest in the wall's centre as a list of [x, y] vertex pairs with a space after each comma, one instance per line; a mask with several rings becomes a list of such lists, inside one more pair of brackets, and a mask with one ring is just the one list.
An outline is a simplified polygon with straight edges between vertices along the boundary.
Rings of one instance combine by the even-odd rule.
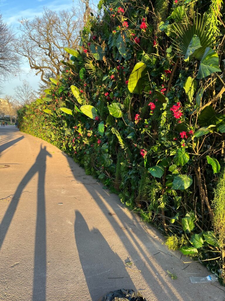
[[146, 73], [147, 67], [144, 63], [139, 62], [134, 66], [128, 81], [128, 90], [130, 92], [141, 94], [144, 84], [143, 77]]

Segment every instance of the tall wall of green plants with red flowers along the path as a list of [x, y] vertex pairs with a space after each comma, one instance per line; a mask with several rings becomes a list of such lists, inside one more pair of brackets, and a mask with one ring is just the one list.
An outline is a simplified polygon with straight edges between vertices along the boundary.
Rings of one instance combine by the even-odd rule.
[[222, 0], [105, 1], [61, 77], [19, 111], [20, 130], [56, 145], [169, 248], [224, 278]]

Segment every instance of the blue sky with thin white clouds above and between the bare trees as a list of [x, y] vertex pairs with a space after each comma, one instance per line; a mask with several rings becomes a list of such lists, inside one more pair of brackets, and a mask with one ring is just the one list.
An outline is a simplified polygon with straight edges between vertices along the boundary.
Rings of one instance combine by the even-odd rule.
[[[43, 7], [54, 11], [69, 10], [76, 3], [77, 0], [74, 0], [74, 2], [73, 0], [0, 0], [0, 13], [3, 20], [12, 25], [18, 33], [17, 27], [20, 24], [18, 19], [21, 20], [23, 17], [32, 20], [35, 16], [41, 16]], [[26, 79], [34, 89], [37, 89], [40, 78], [35, 76], [34, 73], [29, 73], [29, 71], [29, 65], [24, 62], [23, 72], [15, 76], [11, 81], [4, 83], [5, 89], [2, 94], [13, 95], [14, 88], [17, 85], [21, 85], [23, 79]]]

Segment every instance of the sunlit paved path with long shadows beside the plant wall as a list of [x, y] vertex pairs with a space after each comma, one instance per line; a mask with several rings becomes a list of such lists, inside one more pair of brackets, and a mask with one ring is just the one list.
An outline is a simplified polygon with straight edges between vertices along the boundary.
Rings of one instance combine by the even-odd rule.
[[97, 301], [119, 288], [148, 301], [224, 300], [219, 283], [190, 284], [206, 268], [169, 252], [160, 232], [53, 145], [0, 127], [0, 164], [9, 165], [0, 169], [1, 301]]

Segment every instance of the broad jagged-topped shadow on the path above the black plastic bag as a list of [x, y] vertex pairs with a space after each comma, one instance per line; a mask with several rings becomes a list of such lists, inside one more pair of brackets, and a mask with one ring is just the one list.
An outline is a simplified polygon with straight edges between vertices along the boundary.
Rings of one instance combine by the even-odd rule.
[[75, 211], [74, 235], [92, 300], [99, 299], [99, 290], [102, 287], [105, 293], [120, 289], [122, 279], [125, 289], [135, 290], [123, 261], [113, 252], [98, 229], [88, 228], [79, 211]]

